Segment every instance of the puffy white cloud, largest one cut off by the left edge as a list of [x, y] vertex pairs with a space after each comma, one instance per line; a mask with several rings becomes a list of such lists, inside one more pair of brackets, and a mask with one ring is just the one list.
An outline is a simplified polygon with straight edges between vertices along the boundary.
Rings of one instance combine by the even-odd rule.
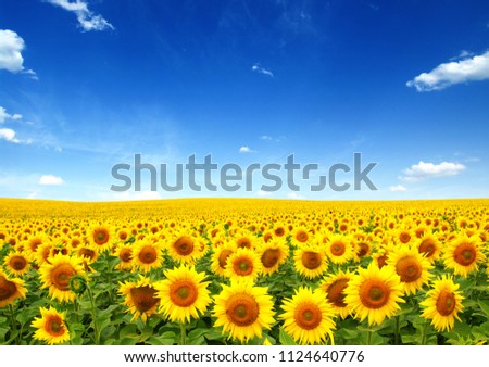
[[10, 29], [0, 29], [0, 69], [11, 73], [24, 69], [22, 50], [25, 43], [22, 37]]

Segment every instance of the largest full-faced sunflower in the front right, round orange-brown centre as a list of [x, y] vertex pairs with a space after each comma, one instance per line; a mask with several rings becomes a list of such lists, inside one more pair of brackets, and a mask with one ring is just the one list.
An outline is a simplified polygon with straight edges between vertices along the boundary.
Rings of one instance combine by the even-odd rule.
[[380, 325], [400, 308], [403, 287], [396, 271], [388, 266], [379, 269], [371, 263], [366, 269], [360, 268], [344, 289], [344, 302], [361, 321], [368, 317], [368, 325]]

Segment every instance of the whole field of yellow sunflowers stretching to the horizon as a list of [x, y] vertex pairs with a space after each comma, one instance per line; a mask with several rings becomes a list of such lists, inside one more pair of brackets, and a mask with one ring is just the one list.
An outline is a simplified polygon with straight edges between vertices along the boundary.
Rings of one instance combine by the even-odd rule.
[[487, 344], [489, 200], [0, 200], [0, 344]]

